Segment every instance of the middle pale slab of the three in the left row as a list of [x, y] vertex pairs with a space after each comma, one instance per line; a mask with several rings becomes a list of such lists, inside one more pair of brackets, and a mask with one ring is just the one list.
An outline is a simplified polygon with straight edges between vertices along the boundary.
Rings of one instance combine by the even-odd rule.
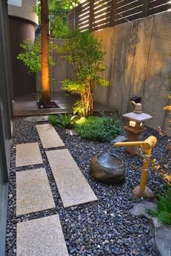
[[24, 170], [16, 173], [16, 215], [55, 207], [46, 170]]

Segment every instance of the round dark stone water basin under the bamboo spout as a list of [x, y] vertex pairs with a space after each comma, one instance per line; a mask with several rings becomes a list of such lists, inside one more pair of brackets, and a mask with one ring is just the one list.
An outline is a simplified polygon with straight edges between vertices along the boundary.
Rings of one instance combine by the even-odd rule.
[[107, 184], [124, 181], [125, 162], [114, 154], [97, 154], [91, 160], [91, 176]]

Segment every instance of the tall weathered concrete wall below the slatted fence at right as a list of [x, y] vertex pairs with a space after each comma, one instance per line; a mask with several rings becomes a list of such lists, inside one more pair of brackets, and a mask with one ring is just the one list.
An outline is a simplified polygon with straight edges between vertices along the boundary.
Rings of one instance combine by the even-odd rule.
[[171, 136], [166, 120], [171, 91], [171, 14], [159, 15], [126, 22], [94, 33], [102, 40], [107, 51], [105, 77], [111, 80], [109, 88], [96, 88], [96, 102], [130, 112], [131, 96], [141, 96], [143, 111], [153, 116], [147, 125], [162, 128]]

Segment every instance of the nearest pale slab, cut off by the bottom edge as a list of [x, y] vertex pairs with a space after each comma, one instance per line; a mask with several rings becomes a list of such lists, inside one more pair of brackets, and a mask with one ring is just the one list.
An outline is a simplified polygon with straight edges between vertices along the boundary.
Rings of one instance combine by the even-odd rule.
[[68, 256], [59, 216], [17, 223], [17, 256]]

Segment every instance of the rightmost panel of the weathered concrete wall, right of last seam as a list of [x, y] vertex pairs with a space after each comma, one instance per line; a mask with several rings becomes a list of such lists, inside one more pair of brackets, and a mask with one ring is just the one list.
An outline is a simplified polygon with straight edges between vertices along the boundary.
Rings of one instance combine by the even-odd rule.
[[154, 118], [149, 125], [155, 129], [163, 128], [170, 134], [168, 123], [165, 123], [165, 110], [167, 94], [171, 90], [171, 15], [170, 12], [156, 15], [154, 18], [153, 32], [151, 34], [151, 48], [146, 73], [146, 82], [143, 88], [144, 111], [149, 112]]

